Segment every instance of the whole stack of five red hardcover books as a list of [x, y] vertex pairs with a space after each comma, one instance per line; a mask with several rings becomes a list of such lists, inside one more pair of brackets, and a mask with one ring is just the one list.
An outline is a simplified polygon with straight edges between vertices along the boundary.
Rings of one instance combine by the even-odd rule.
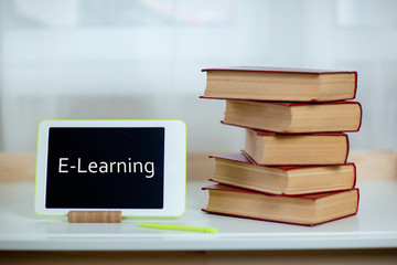
[[208, 213], [315, 225], [358, 209], [348, 137], [362, 106], [356, 72], [206, 68], [202, 98], [226, 100], [225, 125], [246, 130], [240, 153], [213, 155]]

